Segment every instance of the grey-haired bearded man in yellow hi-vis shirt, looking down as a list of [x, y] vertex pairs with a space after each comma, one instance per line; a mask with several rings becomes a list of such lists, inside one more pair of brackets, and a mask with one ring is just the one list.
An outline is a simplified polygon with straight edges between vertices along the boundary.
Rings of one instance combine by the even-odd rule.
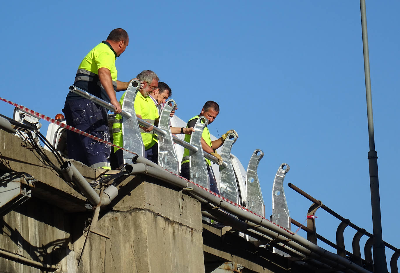
[[[156, 88], [158, 87], [158, 81], [159, 78], [151, 70], [144, 70], [140, 72], [136, 78], [142, 83], [143, 88], [140, 88], [139, 92], [136, 94], [135, 102], [134, 102], [134, 109], [136, 116], [138, 118], [141, 118], [142, 120], [150, 123], [151, 125], [158, 125], [158, 118], [160, 115], [158, 114], [158, 109], [156, 107], [156, 104], [152, 98], [150, 98], [150, 93], [154, 92]], [[122, 95], [122, 98], [120, 100], [120, 104], [122, 105], [122, 102], [124, 100], [124, 95]], [[171, 117], [174, 116], [174, 112], [172, 111]], [[115, 122], [112, 126], [112, 136], [114, 139], [114, 144], [122, 147], [123, 141], [123, 132], [122, 132], [122, 124], [121, 124], [121, 118], [122, 116], [116, 115], [115, 117]], [[144, 157], [147, 159], [153, 161], [154, 163], [158, 164], [158, 140], [157, 140], [157, 134], [152, 132], [153, 126], [149, 128], [145, 128], [143, 126], [140, 127], [140, 134], [142, 135], [142, 140], [143, 140], [143, 145], [144, 145]], [[177, 127], [171, 127], [171, 132], [172, 134], [190, 134], [190, 132], [193, 132], [193, 128], [177, 128]], [[116, 155], [118, 165], [122, 165], [123, 163], [123, 154], [122, 150], [119, 150], [118, 148], [114, 147], [114, 153]]]

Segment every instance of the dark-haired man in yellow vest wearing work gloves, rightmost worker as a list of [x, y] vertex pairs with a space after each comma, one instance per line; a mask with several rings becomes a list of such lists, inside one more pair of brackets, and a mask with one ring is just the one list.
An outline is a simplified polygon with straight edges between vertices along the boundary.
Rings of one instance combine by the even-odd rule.
[[[188, 121], [187, 127], [194, 127], [196, 125], [197, 120], [200, 118], [200, 116], [204, 116], [204, 118], [206, 118], [208, 120], [207, 125], [210, 125], [215, 120], [215, 118], [218, 116], [219, 113], [220, 113], [220, 106], [216, 102], [209, 100], [208, 102], [206, 102], [206, 104], [204, 104], [200, 114], [197, 116], [194, 116], [193, 118], [191, 118]], [[222, 146], [226, 137], [228, 137], [228, 134], [230, 134], [230, 133], [233, 133], [236, 135], [236, 137], [238, 137], [238, 134], [236, 133], [235, 130], [229, 130], [228, 132], [223, 134], [222, 137], [211, 141], [210, 132], [208, 131], [207, 126], [203, 130], [203, 134], [202, 134], [202, 138], [201, 138], [201, 144], [202, 144], [203, 151], [210, 153], [211, 155], [214, 155], [216, 158], [218, 158], [218, 165], [221, 165], [223, 161], [222, 161], [221, 155], [216, 153], [215, 149], [218, 149], [219, 147]], [[190, 143], [190, 135], [185, 136], [185, 141]], [[190, 180], [189, 155], [190, 155], [190, 151], [185, 148], [184, 153], [183, 153], [181, 167], [180, 167], [180, 175], [182, 177], [185, 177], [186, 179]], [[214, 191], [215, 193], [219, 193], [214, 174], [211, 172], [211, 169], [210, 169], [211, 161], [208, 159], [205, 159], [205, 160], [206, 160], [206, 165], [207, 165], [208, 176], [210, 177], [210, 190]]]

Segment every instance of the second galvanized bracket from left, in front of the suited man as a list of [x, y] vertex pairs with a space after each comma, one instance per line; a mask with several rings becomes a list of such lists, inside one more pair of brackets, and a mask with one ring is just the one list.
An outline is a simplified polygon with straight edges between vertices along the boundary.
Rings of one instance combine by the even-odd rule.
[[167, 132], [165, 136], [162, 136], [161, 134], [158, 135], [158, 163], [164, 169], [179, 175], [180, 160], [178, 160], [178, 157], [176, 156], [175, 145], [172, 139], [169, 123], [171, 111], [174, 110], [176, 106], [177, 104], [174, 100], [168, 100], [162, 109], [158, 121], [158, 128]]

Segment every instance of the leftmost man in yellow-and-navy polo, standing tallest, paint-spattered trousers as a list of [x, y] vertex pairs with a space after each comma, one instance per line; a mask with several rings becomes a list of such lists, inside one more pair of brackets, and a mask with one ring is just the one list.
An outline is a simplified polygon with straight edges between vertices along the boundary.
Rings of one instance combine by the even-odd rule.
[[[122, 28], [110, 32], [107, 39], [94, 47], [82, 60], [76, 72], [74, 86], [110, 102], [121, 112], [115, 92], [126, 90], [129, 82], [117, 80], [115, 60], [129, 43], [128, 33]], [[110, 141], [108, 110], [91, 100], [69, 92], [62, 110], [66, 123], [84, 132]], [[67, 130], [68, 157], [93, 167], [110, 169], [110, 146]]]

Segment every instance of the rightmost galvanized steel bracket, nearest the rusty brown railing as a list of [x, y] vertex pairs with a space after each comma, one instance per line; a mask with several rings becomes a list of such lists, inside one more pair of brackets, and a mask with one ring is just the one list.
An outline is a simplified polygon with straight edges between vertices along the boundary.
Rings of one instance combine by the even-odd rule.
[[[276, 172], [274, 184], [272, 185], [272, 222], [290, 230], [290, 216], [288, 204], [286, 203], [285, 191], [283, 189], [283, 180], [290, 167], [286, 163], [280, 164]], [[274, 253], [284, 257], [289, 255], [274, 248]]]

